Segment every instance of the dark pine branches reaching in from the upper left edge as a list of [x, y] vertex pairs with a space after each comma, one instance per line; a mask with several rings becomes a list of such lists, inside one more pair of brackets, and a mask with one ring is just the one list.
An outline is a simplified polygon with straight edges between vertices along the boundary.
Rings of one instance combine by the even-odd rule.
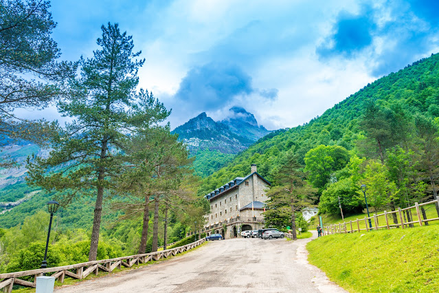
[[56, 130], [54, 123], [14, 113], [49, 105], [63, 92], [58, 81], [75, 67], [56, 63], [60, 50], [51, 37], [56, 23], [49, 8], [49, 1], [0, 1], [0, 137], [43, 143]]

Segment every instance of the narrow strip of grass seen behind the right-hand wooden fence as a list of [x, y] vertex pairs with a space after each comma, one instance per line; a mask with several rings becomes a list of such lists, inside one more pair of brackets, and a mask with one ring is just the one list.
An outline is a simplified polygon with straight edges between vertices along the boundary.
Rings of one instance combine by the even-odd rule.
[[[427, 219], [433, 219], [438, 217], [438, 214], [436, 213], [436, 208], [434, 206], [434, 204], [429, 204], [427, 206], [424, 206], [425, 208], [425, 213], [427, 215]], [[388, 211], [388, 210], [387, 210]], [[383, 210], [378, 211], [378, 212], [370, 212], [370, 216], [372, 217], [374, 214], [376, 213], [376, 215], [382, 214], [384, 213]], [[341, 217], [334, 217], [334, 216], [328, 216], [328, 215], [322, 215], [322, 221], [323, 224], [343, 224], [344, 222], [346, 222], [346, 227], [348, 229], [348, 231], [350, 230], [350, 221], [352, 221], [352, 228], [353, 230], [357, 229], [357, 218], [359, 219], [359, 225], [360, 225], [360, 229], [365, 229], [365, 221], [364, 221], [364, 217], [367, 217], [368, 214], [358, 214], [358, 215], [350, 215], [348, 217], [345, 217], [344, 219], [341, 219]], [[401, 221], [399, 220], [399, 215], [398, 213], [396, 213], [396, 216], [398, 217], [398, 223], [401, 224]], [[416, 208], [412, 208], [412, 221], [417, 221], [418, 220], [418, 215], [416, 215]], [[422, 217], [422, 215], [421, 215]], [[393, 217], [392, 215], [387, 215], [387, 218], [389, 219], [389, 224], [394, 224], [393, 223]], [[385, 219], [384, 216], [380, 216], [378, 217], [379, 220], [379, 226], [385, 226]], [[407, 222], [407, 219], [404, 219], [404, 222]], [[315, 219], [313, 219], [313, 225], [317, 225], [318, 224], [318, 219], [317, 217], [315, 217]], [[414, 224], [414, 225], [419, 225], [419, 224]], [[430, 221], [429, 225], [439, 225], [439, 221]], [[372, 219], [372, 227], [374, 227], [374, 220]]]

